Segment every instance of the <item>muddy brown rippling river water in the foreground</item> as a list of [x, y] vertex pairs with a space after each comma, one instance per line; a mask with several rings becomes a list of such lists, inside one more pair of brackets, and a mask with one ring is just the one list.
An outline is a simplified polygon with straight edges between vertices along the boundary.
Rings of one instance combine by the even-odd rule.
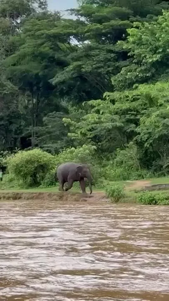
[[1, 201], [1, 301], [168, 301], [169, 207]]

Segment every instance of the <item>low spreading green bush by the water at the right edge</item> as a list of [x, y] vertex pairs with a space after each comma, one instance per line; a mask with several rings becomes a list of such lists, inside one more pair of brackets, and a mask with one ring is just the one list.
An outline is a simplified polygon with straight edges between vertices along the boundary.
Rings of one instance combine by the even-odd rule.
[[169, 205], [169, 194], [143, 191], [137, 196], [137, 200], [143, 205]]

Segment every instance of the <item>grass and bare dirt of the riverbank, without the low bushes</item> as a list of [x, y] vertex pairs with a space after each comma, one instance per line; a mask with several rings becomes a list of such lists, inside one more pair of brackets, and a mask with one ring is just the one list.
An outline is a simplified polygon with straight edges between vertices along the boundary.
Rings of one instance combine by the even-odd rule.
[[[123, 185], [125, 197], [121, 203], [136, 203], [137, 195], [141, 191], [149, 190], [152, 193], [169, 194], [169, 177], [154, 178], [138, 181], [112, 182], [113, 185]], [[60, 192], [58, 186], [46, 188], [19, 189], [2, 188], [0, 189], [0, 200], [56, 200], [56, 201], [110, 201], [106, 193], [101, 188], [96, 188], [89, 195], [82, 195], [80, 189], [74, 188], [68, 192]]]

